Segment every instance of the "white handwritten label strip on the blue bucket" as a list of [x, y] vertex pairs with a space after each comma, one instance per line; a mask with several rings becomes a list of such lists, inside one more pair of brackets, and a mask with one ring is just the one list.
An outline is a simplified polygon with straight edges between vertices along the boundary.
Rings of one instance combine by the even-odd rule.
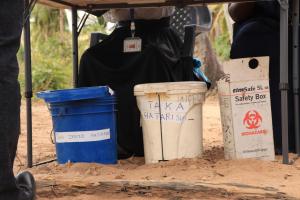
[[110, 129], [92, 131], [55, 132], [56, 143], [97, 142], [110, 139]]

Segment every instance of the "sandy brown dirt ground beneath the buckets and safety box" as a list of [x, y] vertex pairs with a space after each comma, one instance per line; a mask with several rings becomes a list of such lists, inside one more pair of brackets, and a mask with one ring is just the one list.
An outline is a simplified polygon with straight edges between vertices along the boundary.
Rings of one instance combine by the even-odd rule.
[[[145, 165], [130, 158], [117, 165], [51, 162], [30, 171], [37, 180], [38, 199], [300, 199], [300, 160], [224, 160], [220, 111], [216, 97], [204, 104], [202, 158]], [[25, 106], [15, 172], [26, 163]], [[34, 163], [55, 158], [51, 118], [43, 102], [33, 103]]]

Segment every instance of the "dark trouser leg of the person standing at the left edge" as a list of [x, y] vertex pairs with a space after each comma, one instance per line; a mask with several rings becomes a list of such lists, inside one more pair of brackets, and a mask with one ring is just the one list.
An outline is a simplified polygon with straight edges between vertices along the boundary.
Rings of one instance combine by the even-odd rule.
[[23, 0], [0, 1], [0, 200], [18, 195], [13, 174], [20, 133], [20, 87], [17, 51], [20, 45]]

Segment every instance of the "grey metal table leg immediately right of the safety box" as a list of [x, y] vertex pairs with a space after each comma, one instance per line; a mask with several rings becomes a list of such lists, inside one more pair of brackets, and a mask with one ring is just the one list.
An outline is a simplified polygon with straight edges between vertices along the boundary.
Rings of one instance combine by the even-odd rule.
[[281, 91], [281, 124], [283, 163], [289, 164], [289, 130], [288, 130], [288, 0], [280, 3], [280, 83]]

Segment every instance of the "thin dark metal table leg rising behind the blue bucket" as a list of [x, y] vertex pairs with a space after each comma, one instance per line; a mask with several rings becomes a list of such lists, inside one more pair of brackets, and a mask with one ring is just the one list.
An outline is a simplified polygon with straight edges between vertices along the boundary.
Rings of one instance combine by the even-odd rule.
[[73, 87], [78, 86], [78, 31], [77, 8], [72, 7]]

